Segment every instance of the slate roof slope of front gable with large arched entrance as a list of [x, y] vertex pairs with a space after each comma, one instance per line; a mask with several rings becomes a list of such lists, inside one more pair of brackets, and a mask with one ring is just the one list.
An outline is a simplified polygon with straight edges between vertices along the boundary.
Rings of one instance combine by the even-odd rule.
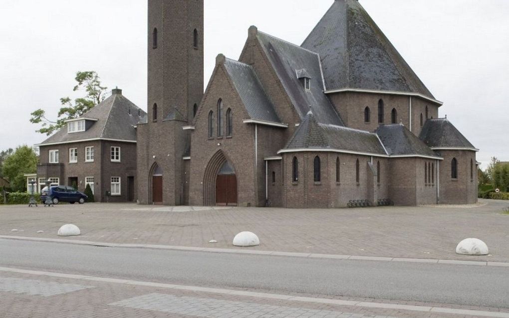
[[225, 59], [224, 68], [230, 75], [250, 119], [280, 123], [274, 105], [250, 65]]

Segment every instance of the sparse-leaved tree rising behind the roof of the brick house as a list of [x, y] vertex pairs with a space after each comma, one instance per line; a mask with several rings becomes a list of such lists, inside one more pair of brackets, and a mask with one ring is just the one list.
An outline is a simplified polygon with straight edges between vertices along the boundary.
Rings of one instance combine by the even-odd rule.
[[49, 120], [46, 117], [46, 111], [42, 108], [34, 110], [31, 113], [30, 122], [41, 124], [42, 126], [36, 132], [50, 135], [55, 130], [64, 127], [66, 120], [80, 117], [104, 100], [107, 88], [101, 85], [101, 80], [95, 71], [77, 72], [74, 79], [77, 85], [74, 86], [73, 92], [84, 89], [87, 95], [82, 98], [76, 98], [74, 102], [70, 97], [61, 98], [60, 103], [62, 107], [56, 120]]

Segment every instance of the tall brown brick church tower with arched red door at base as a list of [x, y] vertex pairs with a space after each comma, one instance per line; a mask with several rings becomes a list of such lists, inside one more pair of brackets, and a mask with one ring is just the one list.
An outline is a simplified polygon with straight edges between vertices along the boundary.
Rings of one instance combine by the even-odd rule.
[[148, 118], [137, 126], [138, 198], [181, 205], [189, 148], [182, 128], [203, 96], [203, 0], [149, 0], [147, 33]]

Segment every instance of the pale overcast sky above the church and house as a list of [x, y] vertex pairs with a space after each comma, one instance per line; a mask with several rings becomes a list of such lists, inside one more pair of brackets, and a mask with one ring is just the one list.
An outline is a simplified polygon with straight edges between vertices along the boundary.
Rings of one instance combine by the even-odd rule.
[[[147, 109], [147, 1], [0, 0], [0, 150], [35, 144], [30, 113], [51, 118], [76, 71]], [[251, 5], [247, 6], [247, 3]], [[490, 157], [509, 161], [509, 1], [360, 0], [447, 118]], [[218, 53], [237, 59], [249, 25], [300, 45], [332, 0], [205, 0], [205, 83]], [[109, 93], [108, 93], [109, 94]]]

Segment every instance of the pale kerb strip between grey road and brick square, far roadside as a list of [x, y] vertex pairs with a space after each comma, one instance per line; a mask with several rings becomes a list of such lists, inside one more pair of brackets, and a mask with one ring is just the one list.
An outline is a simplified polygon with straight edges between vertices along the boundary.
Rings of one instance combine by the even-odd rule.
[[157, 245], [157, 244], [122, 244], [122, 243], [105, 243], [105, 242], [94, 242], [94, 241], [66, 240], [66, 239], [32, 238], [32, 237], [9, 236], [9, 235], [0, 235], [0, 239], [65, 243], [65, 244], [89, 245], [89, 246], [97, 246], [97, 247], [151, 248], [151, 249], [210, 252], [210, 253], [256, 254], [256, 255], [269, 255], [269, 256], [303, 257], [303, 258], [329, 258], [329, 259], [340, 259], [340, 260], [341, 259], [346, 259], [346, 260], [353, 259], [356, 261], [406, 262], [406, 263], [509, 267], [509, 263], [504, 263], [504, 262], [457, 261], [455, 259], [334, 255], [334, 254], [248, 250], [248, 249], [238, 249], [238, 248], [237, 249], [229, 249], [229, 248], [211, 248], [211, 247], [187, 247], [187, 246]]

